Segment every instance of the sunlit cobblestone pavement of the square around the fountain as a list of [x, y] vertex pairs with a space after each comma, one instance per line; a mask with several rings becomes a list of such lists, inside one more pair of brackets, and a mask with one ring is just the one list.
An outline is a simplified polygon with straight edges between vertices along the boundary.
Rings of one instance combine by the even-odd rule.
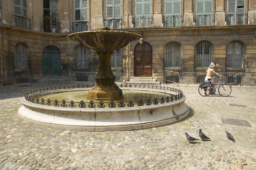
[[[17, 110], [23, 93], [43, 86], [0, 86], [0, 170], [256, 170], [252, 86], [233, 86], [230, 97], [202, 97], [197, 85], [175, 85], [187, 97], [188, 118], [164, 127], [119, 132], [63, 131], [21, 119]], [[252, 127], [223, 124], [221, 118], [247, 120]], [[189, 144], [184, 133], [199, 138], [200, 128], [211, 141]]]

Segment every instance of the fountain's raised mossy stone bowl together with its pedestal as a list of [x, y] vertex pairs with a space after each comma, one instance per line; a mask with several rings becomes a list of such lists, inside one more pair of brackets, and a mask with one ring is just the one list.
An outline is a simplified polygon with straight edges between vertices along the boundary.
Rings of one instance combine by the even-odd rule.
[[[114, 37], [114, 38], [113, 38]], [[121, 49], [141, 35], [121, 31], [84, 31], [68, 35], [69, 40], [80, 42], [97, 52], [100, 59], [96, 84], [89, 90], [89, 100], [120, 100], [122, 90], [115, 84], [115, 76], [110, 67], [110, 58], [115, 50]]]

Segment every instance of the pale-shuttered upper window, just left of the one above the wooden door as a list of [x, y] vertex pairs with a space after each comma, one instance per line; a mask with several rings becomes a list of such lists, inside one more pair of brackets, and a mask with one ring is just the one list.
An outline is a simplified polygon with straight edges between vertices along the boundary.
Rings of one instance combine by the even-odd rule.
[[106, 26], [121, 28], [121, 0], [106, 0]]

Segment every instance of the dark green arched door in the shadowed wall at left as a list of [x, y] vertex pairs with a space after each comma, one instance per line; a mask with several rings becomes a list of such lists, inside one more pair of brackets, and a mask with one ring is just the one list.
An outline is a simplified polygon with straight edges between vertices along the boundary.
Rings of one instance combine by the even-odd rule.
[[61, 53], [59, 51], [43, 51], [43, 75], [61, 76]]

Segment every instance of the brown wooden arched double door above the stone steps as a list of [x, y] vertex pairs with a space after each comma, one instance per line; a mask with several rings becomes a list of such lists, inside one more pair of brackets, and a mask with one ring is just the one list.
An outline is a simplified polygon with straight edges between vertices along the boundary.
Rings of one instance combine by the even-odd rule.
[[152, 76], [152, 48], [147, 42], [135, 46], [134, 76]]

